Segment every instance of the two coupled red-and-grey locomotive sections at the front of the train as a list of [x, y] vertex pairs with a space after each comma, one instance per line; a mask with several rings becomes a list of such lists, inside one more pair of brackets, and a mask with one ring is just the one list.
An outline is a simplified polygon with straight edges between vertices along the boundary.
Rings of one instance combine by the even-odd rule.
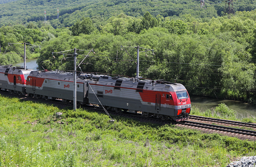
[[[73, 103], [73, 77], [69, 72], [31, 71], [26, 92], [37, 98], [58, 98]], [[99, 105], [100, 108], [140, 113], [145, 117], [182, 121], [187, 119], [191, 107], [189, 95], [182, 84], [163, 80], [80, 74], [76, 91], [77, 104]]]

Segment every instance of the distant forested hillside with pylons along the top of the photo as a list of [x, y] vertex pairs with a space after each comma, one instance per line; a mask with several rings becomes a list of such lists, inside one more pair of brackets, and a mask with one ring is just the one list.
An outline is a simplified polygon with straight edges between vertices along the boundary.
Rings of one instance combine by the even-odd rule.
[[[57, 20], [59, 8], [59, 20]], [[221, 16], [225, 2], [211, 0], [205, 1], [205, 6], [200, 7], [197, 0], [18, 0], [0, 6], [0, 26], [29, 21], [44, 21], [44, 10], [47, 20], [57, 27], [70, 27], [77, 18], [98, 17], [107, 20], [112, 16], [124, 13], [128, 16], [141, 18], [146, 11], [154, 17], [160, 15], [164, 18], [183, 18], [184, 15], [205, 19]], [[256, 0], [234, 2], [234, 11], [251, 11], [256, 8]]]

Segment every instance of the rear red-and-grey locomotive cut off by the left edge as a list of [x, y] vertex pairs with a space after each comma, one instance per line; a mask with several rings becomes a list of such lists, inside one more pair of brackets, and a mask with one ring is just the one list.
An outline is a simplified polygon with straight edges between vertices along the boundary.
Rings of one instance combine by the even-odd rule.
[[0, 66], [0, 89], [9, 90], [10, 93], [26, 93], [26, 79], [32, 69], [24, 67]]

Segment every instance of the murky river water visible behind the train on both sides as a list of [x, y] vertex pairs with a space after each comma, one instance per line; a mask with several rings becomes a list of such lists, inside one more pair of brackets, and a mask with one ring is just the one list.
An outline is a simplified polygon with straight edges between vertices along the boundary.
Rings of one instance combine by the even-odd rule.
[[[13, 64], [13, 66], [24, 66], [24, 62], [20, 61], [18, 63]], [[26, 61], [27, 68], [37, 70], [37, 60], [27, 60]], [[225, 100], [225, 99], [217, 99], [210, 97], [202, 97], [202, 96], [190, 96], [191, 105], [198, 106], [202, 111], [207, 109], [211, 109], [212, 107], [216, 107], [220, 103], [225, 103], [229, 108], [236, 110], [239, 114], [243, 114], [247, 116], [248, 114], [256, 116], [256, 106], [250, 104], [244, 104], [241, 101], [236, 100]]]

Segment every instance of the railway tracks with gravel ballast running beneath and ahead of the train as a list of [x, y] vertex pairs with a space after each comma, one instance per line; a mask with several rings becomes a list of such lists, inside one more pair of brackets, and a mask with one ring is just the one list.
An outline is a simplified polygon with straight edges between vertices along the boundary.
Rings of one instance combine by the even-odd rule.
[[[17, 94], [10, 94], [8, 92], [0, 91], [0, 94], [5, 95], [5, 96], [11, 96], [11, 97], [17, 97], [21, 98], [24, 100], [31, 100], [31, 101], [38, 101], [42, 103], [48, 103], [48, 104], [54, 104], [58, 107], [72, 107], [73, 104], [66, 104], [62, 103], [60, 100], [45, 100], [45, 99], [37, 99], [33, 97], [28, 97], [28, 96], [23, 96], [23, 95], [17, 95]], [[105, 113], [103, 110], [100, 110], [99, 108], [92, 106], [92, 105], [87, 105], [83, 106], [82, 108], [84, 109], [89, 109], [89, 110], [94, 110], [100, 113]], [[225, 127], [225, 126], [218, 126], [214, 124], [207, 124], [207, 123], [199, 123], [199, 122], [192, 122], [192, 121], [182, 121], [182, 122], [174, 122], [170, 120], [161, 120], [159, 118], [153, 118], [153, 117], [143, 117], [140, 114], [132, 114], [132, 113], [122, 113], [122, 112], [114, 112], [114, 111], [108, 111], [109, 114], [112, 116], [116, 117], [126, 117], [126, 118], [131, 118], [131, 119], [136, 119], [141, 122], [151, 122], [151, 123], [156, 123], [156, 124], [176, 124], [181, 127], [195, 127], [195, 129], [198, 130], [208, 130], [211, 132], [223, 132], [224, 134], [229, 134], [232, 136], [250, 136], [251, 138], [256, 139], [256, 131], [250, 131], [250, 130], [244, 130], [244, 129], [237, 129], [237, 128], [230, 128], [230, 127]], [[221, 123], [229, 123], [229, 124], [235, 124], [235, 125], [240, 125], [244, 127], [251, 127], [251, 128], [256, 128], [256, 124], [251, 124], [251, 123], [243, 123], [243, 122], [237, 122], [237, 121], [229, 121], [229, 120], [223, 120], [223, 119], [214, 119], [214, 118], [204, 118], [204, 117], [199, 117], [199, 116], [194, 116], [191, 115], [189, 116], [189, 119], [197, 119], [197, 120], [204, 120], [204, 121], [212, 121], [212, 122], [221, 122]]]

